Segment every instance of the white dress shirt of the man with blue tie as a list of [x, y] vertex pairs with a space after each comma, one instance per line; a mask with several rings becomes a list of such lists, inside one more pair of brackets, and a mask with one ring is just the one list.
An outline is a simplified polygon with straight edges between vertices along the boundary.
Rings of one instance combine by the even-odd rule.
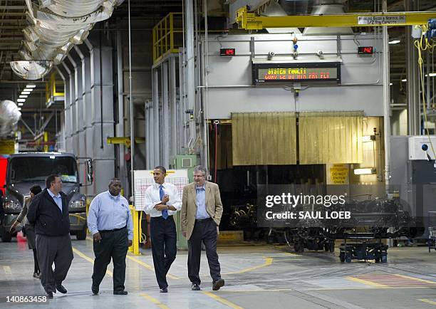
[[[163, 190], [165, 194], [170, 198], [167, 201], [167, 205], [174, 206], [174, 210], [168, 209], [168, 216], [172, 216], [176, 214], [182, 208], [182, 200], [180, 199], [179, 192], [177, 191], [177, 187], [174, 184], [170, 184], [169, 182], [164, 182], [162, 184]], [[155, 207], [157, 204], [160, 204], [160, 184], [153, 184], [145, 190], [145, 206], [144, 211], [145, 214], [150, 214], [150, 216], [162, 216], [162, 211], [157, 211]]]

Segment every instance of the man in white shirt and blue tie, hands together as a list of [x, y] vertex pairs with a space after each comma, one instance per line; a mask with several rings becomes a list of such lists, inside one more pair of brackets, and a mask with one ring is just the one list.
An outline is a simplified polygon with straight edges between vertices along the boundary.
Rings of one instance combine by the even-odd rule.
[[165, 182], [167, 169], [155, 167], [155, 184], [145, 191], [144, 211], [150, 214], [150, 237], [152, 256], [160, 293], [168, 292], [167, 273], [177, 253], [177, 231], [173, 214], [182, 207], [177, 187]]

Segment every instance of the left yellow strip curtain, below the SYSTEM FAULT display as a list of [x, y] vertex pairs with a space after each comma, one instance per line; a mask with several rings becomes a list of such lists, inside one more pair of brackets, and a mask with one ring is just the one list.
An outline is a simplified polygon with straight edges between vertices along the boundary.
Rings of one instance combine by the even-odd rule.
[[296, 164], [294, 112], [232, 113], [234, 165]]

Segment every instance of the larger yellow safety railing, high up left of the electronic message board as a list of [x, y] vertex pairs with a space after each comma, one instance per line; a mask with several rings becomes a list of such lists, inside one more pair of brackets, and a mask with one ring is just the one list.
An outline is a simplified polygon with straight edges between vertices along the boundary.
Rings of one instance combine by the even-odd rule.
[[153, 63], [182, 46], [182, 13], [170, 13], [153, 27]]

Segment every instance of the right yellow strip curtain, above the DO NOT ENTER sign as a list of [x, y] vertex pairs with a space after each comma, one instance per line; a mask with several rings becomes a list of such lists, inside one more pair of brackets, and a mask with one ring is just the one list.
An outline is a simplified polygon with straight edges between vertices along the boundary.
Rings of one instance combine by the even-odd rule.
[[363, 112], [301, 112], [300, 164], [361, 163]]

